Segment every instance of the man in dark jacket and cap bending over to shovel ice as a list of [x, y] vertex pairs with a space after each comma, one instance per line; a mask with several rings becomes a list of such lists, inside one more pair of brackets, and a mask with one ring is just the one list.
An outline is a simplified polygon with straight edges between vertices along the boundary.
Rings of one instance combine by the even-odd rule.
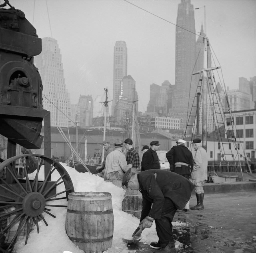
[[142, 194], [142, 228], [151, 227], [155, 220], [158, 242], [152, 242], [150, 247], [159, 249], [155, 253], [175, 253], [172, 220], [177, 209], [185, 207], [194, 185], [181, 175], [156, 169], [138, 174], [129, 169], [122, 185]]

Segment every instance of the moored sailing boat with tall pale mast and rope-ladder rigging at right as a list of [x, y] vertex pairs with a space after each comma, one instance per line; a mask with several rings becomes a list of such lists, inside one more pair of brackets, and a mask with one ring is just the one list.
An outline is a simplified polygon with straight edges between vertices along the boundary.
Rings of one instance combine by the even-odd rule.
[[[208, 161], [209, 179], [212, 182], [236, 182], [248, 180], [248, 178], [253, 180], [255, 176], [252, 175], [248, 160], [245, 164], [242, 164], [240, 160], [240, 157], [246, 157], [244, 153], [241, 155], [238, 152], [238, 146], [242, 147], [243, 143], [238, 142], [234, 134], [230, 135], [230, 133], [236, 133], [236, 126], [232, 120], [233, 116], [229, 107], [225, 82], [223, 81], [221, 86], [220, 83], [216, 84], [215, 80], [215, 71], [218, 71], [221, 67], [211, 65], [211, 57], [213, 56], [211, 55], [211, 45], [206, 36], [206, 30], [204, 33], [201, 32], [199, 36], [203, 40], [204, 47], [203, 67], [192, 74], [192, 76], [199, 75], [199, 78], [197, 79], [198, 85], [194, 101], [187, 118], [184, 139], [185, 136], [191, 136], [190, 150], [192, 149], [192, 140], [200, 138], [203, 148], [213, 150], [210, 151], [211, 157], [215, 153], [217, 154], [217, 163], [216, 161], [210, 163]], [[220, 75], [217, 73], [216, 76]], [[228, 105], [228, 112], [224, 112], [223, 102]], [[211, 131], [208, 129], [209, 125], [212, 126]], [[191, 151], [193, 152], [193, 150]], [[244, 152], [244, 150], [240, 150], [240, 152]], [[245, 173], [246, 177], [244, 176]]]

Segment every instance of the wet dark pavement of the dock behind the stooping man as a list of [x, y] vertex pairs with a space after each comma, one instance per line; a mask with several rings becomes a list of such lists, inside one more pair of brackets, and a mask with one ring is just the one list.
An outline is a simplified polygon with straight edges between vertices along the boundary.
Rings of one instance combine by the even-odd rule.
[[[190, 207], [195, 205], [193, 194]], [[201, 211], [176, 212], [173, 221], [188, 224], [173, 228], [177, 253], [256, 252], [256, 191], [205, 194], [204, 206]], [[129, 250], [130, 253], [158, 251], [143, 243], [130, 245]]]

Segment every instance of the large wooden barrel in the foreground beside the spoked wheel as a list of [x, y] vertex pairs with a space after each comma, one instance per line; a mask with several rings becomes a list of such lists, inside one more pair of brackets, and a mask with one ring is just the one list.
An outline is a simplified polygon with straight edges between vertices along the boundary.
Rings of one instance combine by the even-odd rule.
[[108, 250], [112, 246], [114, 215], [109, 192], [69, 194], [66, 233], [86, 253]]

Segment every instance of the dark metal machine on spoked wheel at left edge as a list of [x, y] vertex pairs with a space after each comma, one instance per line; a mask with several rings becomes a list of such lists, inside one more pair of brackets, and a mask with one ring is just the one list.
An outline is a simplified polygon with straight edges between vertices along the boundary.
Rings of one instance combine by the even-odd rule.
[[[55, 209], [66, 207], [59, 201], [68, 199], [74, 188], [65, 168], [50, 158], [50, 112], [43, 109], [43, 86], [34, 66], [41, 39], [25, 14], [4, 1], [0, 5], [0, 134], [8, 144], [7, 159], [0, 160], [0, 252], [12, 252], [20, 234], [26, 244], [35, 226], [39, 233], [40, 220], [48, 225], [49, 215], [56, 217]], [[40, 135], [43, 120], [44, 137]], [[16, 155], [17, 144], [39, 149], [43, 140], [45, 155]], [[23, 178], [16, 164], [21, 164]], [[51, 181], [56, 173], [57, 179]]]

